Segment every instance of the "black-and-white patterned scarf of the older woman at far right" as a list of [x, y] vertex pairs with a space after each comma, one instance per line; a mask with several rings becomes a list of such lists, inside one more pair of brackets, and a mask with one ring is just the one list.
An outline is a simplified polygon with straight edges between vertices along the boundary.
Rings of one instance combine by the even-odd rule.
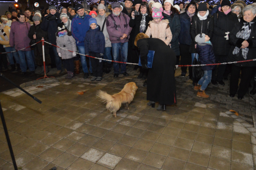
[[[252, 28], [253, 23], [254, 22], [244, 23], [242, 29], [237, 33], [237, 38], [243, 38], [245, 40], [248, 39], [250, 37], [250, 34], [251, 34], [251, 28]], [[243, 56], [244, 60], [246, 60], [249, 49], [247, 47], [246, 48], [241, 48], [241, 49], [242, 49], [242, 56]], [[233, 54], [237, 54], [237, 56], [238, 56], [239, 51], [240, 51], [240, 48], [236, 47], [233, 50]]]

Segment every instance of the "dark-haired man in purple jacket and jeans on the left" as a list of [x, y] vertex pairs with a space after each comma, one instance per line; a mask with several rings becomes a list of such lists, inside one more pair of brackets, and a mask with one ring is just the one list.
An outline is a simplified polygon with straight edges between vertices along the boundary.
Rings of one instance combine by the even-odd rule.
[[[18, 13], [17, 18], [19, 21], [12, 23], [9, 43], [11, 47], [15, 47], [16, 50], [20, 50], [29, 46], [30, 39], [28, 37], [28, 31], [30, 28], [30, 24], [28, 22], [25, 22], [25, 15], [23, 13]], [[20, 50], [18, 51], [18, 54], [19, 54], [19, 62], [20, 62], [20, 69], [22, 70], [22, 75], [25, 75], [27, 71], [25, 55], [28, 61], [30, 74], [34, 74], [35, 66], [34, 66], [32, 54], [31, 54], [31, 49], [26, 48], [26, 49]]]

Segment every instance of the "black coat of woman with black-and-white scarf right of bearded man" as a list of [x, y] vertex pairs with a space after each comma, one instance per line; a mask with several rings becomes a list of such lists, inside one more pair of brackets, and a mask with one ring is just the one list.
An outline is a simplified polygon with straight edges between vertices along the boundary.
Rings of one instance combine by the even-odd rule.
[[[146, 18], [146, 28], [143, 31], [143, 33], [145, 33], [147, 31], [148, 22], [153, 20], [153, 18], [149, 15], [147, 15], [145, 18]], [[139, 16], [135, 16], [134, 19], [130, 19], [130, 21], [129, 21], [129, 26], [132, 29], [134, 29], [134, 35], [132, 35], [132, 36], [130, 35], [130, 39], [132, 40], [132, 48], [135, 48], [134, 40], [135, 40], [135, 37], [140, 33], [141, 19], [142, 19], [142, 14], [140, 14]]]

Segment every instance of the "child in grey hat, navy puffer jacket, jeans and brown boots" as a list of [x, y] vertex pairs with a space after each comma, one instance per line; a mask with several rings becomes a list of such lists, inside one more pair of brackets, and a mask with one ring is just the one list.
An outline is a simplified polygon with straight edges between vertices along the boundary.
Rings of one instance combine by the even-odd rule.
[[[215, 55], [213, 52], [212, 43], [210, 37], [203, 33], [198, 34], [195, 38], [197, 42], [197, 52], [199, 54], [199, 61], [201, 64], [215, 64]], [[202, 98], [209, 98], [205, 94], [205, 89], [212, 79], [212, 70], [215, 68], [215, 65], [211, 66], [202, 66], [203, 77], [195, 85], [194, 90], [198, 90], [197, 96]]]

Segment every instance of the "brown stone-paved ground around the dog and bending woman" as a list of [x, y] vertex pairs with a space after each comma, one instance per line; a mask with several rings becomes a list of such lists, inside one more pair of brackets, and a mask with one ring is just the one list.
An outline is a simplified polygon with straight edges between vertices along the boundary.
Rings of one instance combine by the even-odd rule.
[[[177, 106], [147, 106], [138, 70], [128, 77], [113, 72], [103, 80], [72, 80], [0, 93], [16, 162], [22, 170], [253, 170], [256, 169], [255, 97], [229, 97], [225, 86], [209, 85], [209, 99], [196, 97], [188, 78], [176, 71]], [[138, 91], [130, 109], [117, 118], [95, 97], [99, 89], [119, 92], [127, 82]], [[86, 91], [83, 95], [79, 91]], [[233, 109], [241, 116], [229, 112]], [[2, 125], [1, 125], [2, 126]], [[0, 170], [13, 170], [0, 128]]]

